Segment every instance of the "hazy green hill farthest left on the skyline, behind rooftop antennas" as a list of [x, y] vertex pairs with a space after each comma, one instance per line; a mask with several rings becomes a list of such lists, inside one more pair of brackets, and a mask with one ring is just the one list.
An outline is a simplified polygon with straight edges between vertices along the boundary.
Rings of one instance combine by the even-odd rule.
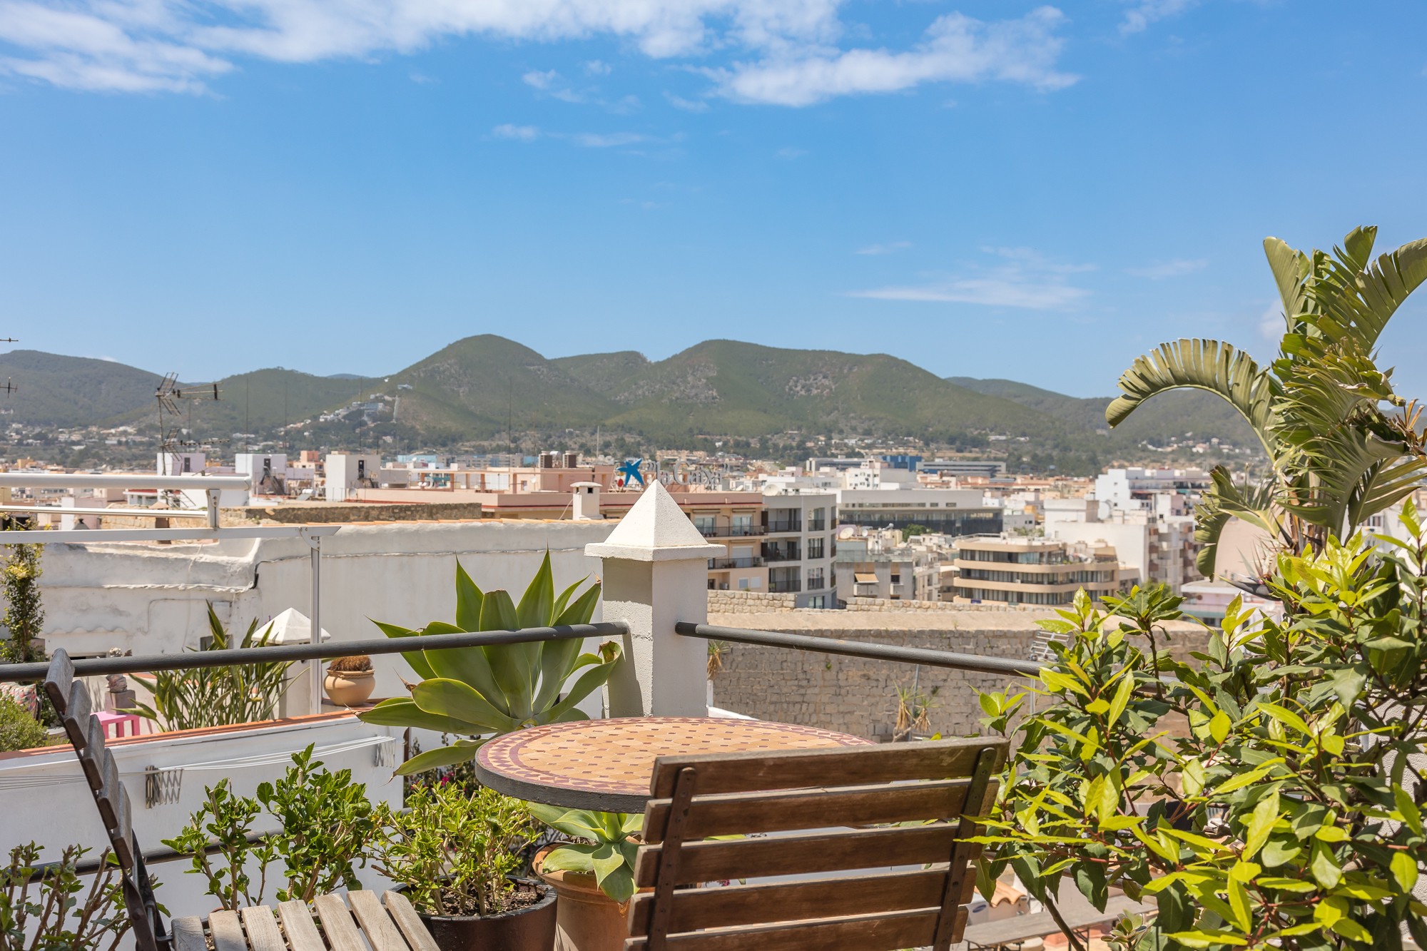
[[10, 423], [87, 426], [100, 420], [154, 410], [157, 373], [111, 360], [63, 357], [39, 350], [0, 354], [0, 377], [14, 391], [0, 394]]

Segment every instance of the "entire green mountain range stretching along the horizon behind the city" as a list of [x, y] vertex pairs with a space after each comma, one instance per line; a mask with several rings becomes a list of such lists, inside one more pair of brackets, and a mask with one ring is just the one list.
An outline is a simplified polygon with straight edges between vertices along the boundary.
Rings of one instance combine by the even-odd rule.
[[[0, 376], [19, 388], [4, 408], [11, 421], [41, 426], [131, 423], [153, 427], [160, 377], [106, 360], [33, 350], [0, 354]], [[1194, 433], [1250, 446], [1247, 427], [1209, 394], [1169, 394], [1149, 403], [1112, 436], [1104, 406], [1010, 380], [938, 377], [886, 354], [782, 350], [709, 340], [668, 360], [634, 351], [548, 360], [504, 337], [458, 340], [385, 377], [318, 377], [297, 370], [255, 370], [218, 381], [218, 401], [184, 403], [193, 436], [221, 440], [234, 433], [271, 433], [315, 420], [374, 394], [390, 407], [378, 417], [417, 441], [454, 446], [514, 433], [634, 433], [665, 446], [699, 436], [759, 438], [806, 436], [919, 437], [975, 448], [989, 434], [1029, 437], [1016, 450], [1035, 466], [1036, 453], [1093, 467], [1100, 456]], [[180, 423], [183, 426], [183, 423]], [[360, 414], [323, 424], [324, 440], [341, 441]], [[1003, 443], [1015, 448], [1012, 443]], [[1077, 458], [1079, 458], [1077, 457]], [[1020, 464], [1020, 463], [1017, 463]]]

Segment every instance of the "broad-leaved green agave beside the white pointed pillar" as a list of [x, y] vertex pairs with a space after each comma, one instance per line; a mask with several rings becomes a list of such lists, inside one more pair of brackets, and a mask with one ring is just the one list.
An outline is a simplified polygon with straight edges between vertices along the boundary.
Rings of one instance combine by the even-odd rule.
[[[599, 583], [575, 593], [581, 578], [558, 595], [549, 553], [531, 580], [519, 604], [507, 591], [481, 591], [461, 563], [455, 565], [455, 624], [432, 621], [421, 630], [374, 621], [387, 637], [514, 631], [522, 627], [588, 624], [599, 601]], [[619, 660], [619, 645], [606, 641], [596, 654], [581, 654], [579, 640], [492, 644], [402, 654], [421, 683], [410, 697], [384, 700], [358, 714], [365, 723], [417, 727], [477, 737], [511, 733], [524, 727], [585, 720], [575, 704], [598, 690]], [[574, 684], [571, 677], [585, 670]], [[457, 740], [407, 760], [398, 775], [468, 763], [484, 740]]]

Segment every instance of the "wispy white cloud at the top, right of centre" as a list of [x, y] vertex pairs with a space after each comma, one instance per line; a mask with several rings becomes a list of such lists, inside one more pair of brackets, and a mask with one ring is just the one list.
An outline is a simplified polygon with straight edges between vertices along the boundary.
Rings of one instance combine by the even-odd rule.
[[922, 83], [1005, 80], [1040, 90], [1070, 86], [1076, 76], [1055, 63], [1065, 41], [1065, 14], [1039, 7], [1019, 20], [983, 23], [959, 13], [938, 17], [926, 39], [908, 51], [792, 50], [706, 74], [728, 99], [776, 106], [811, 106], [833, 96], [895, 93]]

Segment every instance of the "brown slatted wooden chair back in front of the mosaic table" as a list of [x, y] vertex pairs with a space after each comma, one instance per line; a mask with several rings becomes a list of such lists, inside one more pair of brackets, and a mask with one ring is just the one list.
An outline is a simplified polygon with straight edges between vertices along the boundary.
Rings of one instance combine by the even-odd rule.
[[[1007, 751], [973, 738], [656, 760], [635, 862], [652, 891], [629, 902], [625, 951], [946, 951], [976, 885], [979, 847], [962, 840], [980, 834]], [[869, 871], [898, 865], [920, 868]], [[813, 877], [849, 870], [863, 871]], [[796, 880], [696, 887], [779, 875]]]

